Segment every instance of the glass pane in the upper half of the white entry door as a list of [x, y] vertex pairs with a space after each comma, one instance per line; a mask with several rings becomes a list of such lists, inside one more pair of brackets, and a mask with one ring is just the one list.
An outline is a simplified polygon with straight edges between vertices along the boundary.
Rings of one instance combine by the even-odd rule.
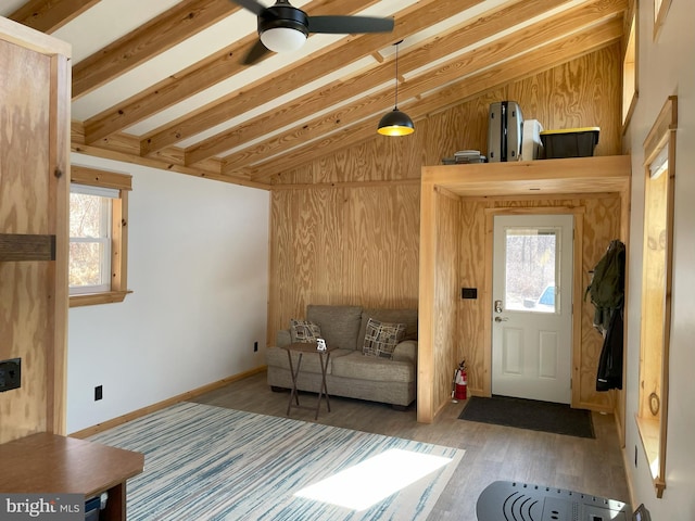
[[555, 313], [557, 231], [507, 229], [505, 259], [505, 307]]

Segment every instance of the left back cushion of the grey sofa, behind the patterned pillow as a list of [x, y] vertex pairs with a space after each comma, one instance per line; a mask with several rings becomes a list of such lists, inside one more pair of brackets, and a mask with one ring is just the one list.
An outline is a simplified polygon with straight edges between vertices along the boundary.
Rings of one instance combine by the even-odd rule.
[[[326, 345], [339, 350], [356, 350], [362, 323], [361, 306], [306, 306], [306, 319], [317, 323]], [[362, 344], [359, 344], [362, 350]]]

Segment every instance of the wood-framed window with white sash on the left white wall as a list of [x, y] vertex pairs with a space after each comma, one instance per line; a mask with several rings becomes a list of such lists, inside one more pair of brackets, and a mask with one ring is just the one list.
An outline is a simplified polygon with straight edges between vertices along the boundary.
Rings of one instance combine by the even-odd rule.
[[71, 177], [71, 307], [122, 302], [131, 176], [74, 165]]

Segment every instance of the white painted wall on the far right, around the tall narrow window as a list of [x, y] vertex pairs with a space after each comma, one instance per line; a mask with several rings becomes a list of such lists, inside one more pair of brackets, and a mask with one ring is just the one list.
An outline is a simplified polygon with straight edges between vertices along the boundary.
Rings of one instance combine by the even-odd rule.
[[[673, 0], [657, 41], [653, 3], [640, 2], [640, 98], [626, 145], [632, 152], [632, 218], [629, 250], [626, 461], [633, 501], [654, 520], [695, 519], [695, 30], [692, 0]], [[640, 298], [644, 217], [643, 143], [666, 99], [678, 96], [674, 269], [668, 402], [667, 488], [656, 498], [634, 415], [639, 399]], [[634, 450], [637, 447], [637, 467]]]

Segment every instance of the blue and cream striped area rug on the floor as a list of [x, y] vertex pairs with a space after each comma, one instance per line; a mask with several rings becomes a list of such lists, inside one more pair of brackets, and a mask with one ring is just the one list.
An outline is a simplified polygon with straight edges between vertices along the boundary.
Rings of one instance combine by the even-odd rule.
[[[90, 440], [144, 454], [144, 472], [127, 484], [130, 521], [425, 520], [464, 455], [457, 448], [191, 403]], [[451, 461], [362, 510], [295, 495], [384, 453], [406, 454], [397, 450]], [[368, 478], [359, 482], [364, 495], [372, 485]]]

